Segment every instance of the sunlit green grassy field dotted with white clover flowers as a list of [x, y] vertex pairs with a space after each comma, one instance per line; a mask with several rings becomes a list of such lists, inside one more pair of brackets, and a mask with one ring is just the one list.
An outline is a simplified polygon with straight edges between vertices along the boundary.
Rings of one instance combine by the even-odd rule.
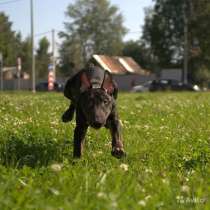
[[72, 159], [75, 122], [57, 93], [0, 93], [0, 210], [210, 209], [210, 94], [120, 94], [127, 157], [89, 129]]

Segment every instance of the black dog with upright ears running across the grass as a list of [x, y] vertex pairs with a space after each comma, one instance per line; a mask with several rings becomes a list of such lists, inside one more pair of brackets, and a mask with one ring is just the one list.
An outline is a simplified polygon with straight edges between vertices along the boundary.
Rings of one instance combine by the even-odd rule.
[[125, 155], [115, 101], [117, 92], [117, 85], [111, 74], [95, 66], [81, 70], [67, 81], [64, 96], [71, 100], [71, 105], [63, 114], [62, 120], [71, 121], [76, 110], [74, 157], [82, 155], [88, 126], [95, 129], [105, 126], [110, 129], [112, 155], [117, 158]]

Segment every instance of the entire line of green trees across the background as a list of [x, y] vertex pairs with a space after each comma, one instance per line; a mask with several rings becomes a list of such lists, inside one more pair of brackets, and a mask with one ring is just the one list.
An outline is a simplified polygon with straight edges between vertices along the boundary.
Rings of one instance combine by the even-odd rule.
[[[124, 42], [128, 32], [124, 17], [109, 0], [76, 0], [66, 10], [65, 30], [59, 33], [59, 73], [68, 75], [85, 65], [92, 54], [133, 57], [143, 68], [158, 73], [163, 68], [183, 68], [184, 27], [188, 27], [188, 78], [210, 79], [210, 2], [206, 0], [154, 0], [145, 10], [142, 36]], [[185, 21], [187, 18], [187, 22]], [[46, 77], [50, 62], [46, 37], [36, 50], [37, 77]], [[31, 69], [30, 37], [12, 31], [8, 16], [0, 13], [0, 52], [5, 65], [15, 65], [20, 56], [23, 69]]]

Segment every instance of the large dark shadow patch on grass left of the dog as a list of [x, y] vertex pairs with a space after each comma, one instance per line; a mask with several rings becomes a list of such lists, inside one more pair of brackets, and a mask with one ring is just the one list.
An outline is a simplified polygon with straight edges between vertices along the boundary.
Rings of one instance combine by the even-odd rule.
[[24, 139], [10, 136], [0, 144], [0, 164], [6, 167], [32, 168], [47, 166], [71, 157], [71, 142], [56, 142], [51, 139]]

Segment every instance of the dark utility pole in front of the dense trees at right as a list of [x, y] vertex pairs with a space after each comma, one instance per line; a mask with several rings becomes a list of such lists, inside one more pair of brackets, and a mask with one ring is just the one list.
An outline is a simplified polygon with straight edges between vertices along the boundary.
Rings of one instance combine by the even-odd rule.
[[185, 4], [183, 6], [183, 14], [184, 14], [184, 66], [183, 66], [183, 83], [188, 83], [188, 17], [187, 17], [187, 1], [185, 0]]

